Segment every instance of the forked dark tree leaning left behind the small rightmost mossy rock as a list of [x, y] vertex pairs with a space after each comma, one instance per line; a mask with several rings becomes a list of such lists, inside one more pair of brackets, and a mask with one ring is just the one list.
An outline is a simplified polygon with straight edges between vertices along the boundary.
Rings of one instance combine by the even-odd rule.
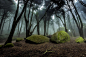
[[72, 5], [73, 5], [73, 7], [74, 7], [74, 9], [75, 9], [75, 14], [78, 16], [77, 19], [76, 19], [75, 16], [74, 16], [74, 14], [73, 14], [73, 12], [72, 12], [71, 7], [70, 7], [69, 1], [68, 1], [68, 0], [66, 0], [66, 1], [67, 1], [68, 7], [70, 8], [70, 12], [71, 12], [71, 14], [72, 14], [72, 16], [73, 16], [73, 19], [74, 19], [74, 21], [76, 22], [76, 25], [77, 25], [77, 27], [78, 27], [79, 34], [80, 34], [81, 37], [84, 38], [84, 36], [83, 36], [83, 23], [82, 23], [82, 20], [81, 20], [80, 15], [79, 15], [79, 13], [78, 13], [78, 11], [77, 11], [77, 8], [75, 7], [74, 2], [71, 1]]

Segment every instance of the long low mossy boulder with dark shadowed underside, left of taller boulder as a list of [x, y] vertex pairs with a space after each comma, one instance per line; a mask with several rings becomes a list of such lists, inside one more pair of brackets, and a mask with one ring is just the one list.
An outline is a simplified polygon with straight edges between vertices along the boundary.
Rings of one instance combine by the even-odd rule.
[[44, 42], [49, 42], [49, 38], [42, 35], [32, 35], [26, 38], [26, 42], [40, 44]]

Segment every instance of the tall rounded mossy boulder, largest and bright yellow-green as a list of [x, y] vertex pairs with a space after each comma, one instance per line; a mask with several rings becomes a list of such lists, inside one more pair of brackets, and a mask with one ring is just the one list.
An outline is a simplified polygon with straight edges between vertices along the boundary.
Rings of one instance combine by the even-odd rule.
[[65, 31], [59, 31], [52, 35], [50, 41], [55, 43], [65, 43], [70, 40], [70, 36]]

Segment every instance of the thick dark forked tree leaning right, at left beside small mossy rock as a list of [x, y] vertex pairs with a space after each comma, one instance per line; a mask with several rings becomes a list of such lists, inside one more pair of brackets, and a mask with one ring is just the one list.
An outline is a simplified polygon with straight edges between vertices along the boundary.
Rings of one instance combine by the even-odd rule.
[[16, 10], [15, 17], [14, 17], [14, 20], [13, 20], [12, 28], [11, 28], [10, 34], [9, 34], [8, 39], [7, 39], [7, 41], [5, 42], [5, 44], [11, 43], [12, 37], [13, 37], [13, 34], [14, 34], [14, 31], [15, 31], [15, 28], [16, 28], [16, 26], [17, 26], [17, 23], [18, 23], [18, 22], [20, 21], [20, 19], [21, 19], [21, 16], [22, 16], [22, 14], [23, 14], [23, 12], [24, 12], [24, 10], [25, 10], [25, 8], [26, 8], [27, 3], [28, 3], [28, 0], [27, 0], [26, 3], [24, 4], [24, 7], [23, 7], [22, 11], [21, 11], [19, 17], [17, 18], [18, 9], [19, 9], [19, 0], [18, 0], [17, 10]]

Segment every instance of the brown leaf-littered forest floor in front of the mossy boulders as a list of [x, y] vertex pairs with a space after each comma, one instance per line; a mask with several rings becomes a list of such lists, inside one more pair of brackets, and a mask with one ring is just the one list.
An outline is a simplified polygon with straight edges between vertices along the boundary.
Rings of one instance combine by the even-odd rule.
[[86, 57], [86, 43], [70, 42], [55, 44], [13, 43], [14, 47], [0, 49], [0, 57]]

